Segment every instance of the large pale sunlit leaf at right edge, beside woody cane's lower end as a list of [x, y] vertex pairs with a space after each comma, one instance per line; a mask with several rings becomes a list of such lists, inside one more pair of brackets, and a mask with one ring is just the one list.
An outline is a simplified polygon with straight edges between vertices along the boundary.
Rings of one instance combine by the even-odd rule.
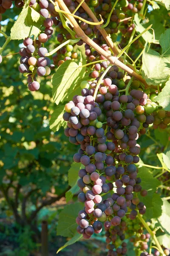
[[162, 52], [149, 49], [146, 45], [142, 56], [142, 76], [148, 84], [160, 84], [167, 81], [170, 74], [170, 29], [161, 34], [159, 44]]

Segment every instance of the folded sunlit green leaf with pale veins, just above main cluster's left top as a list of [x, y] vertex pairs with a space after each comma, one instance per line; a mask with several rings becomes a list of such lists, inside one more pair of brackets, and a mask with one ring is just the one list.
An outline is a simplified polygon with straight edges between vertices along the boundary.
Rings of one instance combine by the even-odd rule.
[[[81, 64], [80, 64], [81, 66]], [[74, 61], [65, 61], [52, 77], [52, 96], [54, 102], [64, 102], [70, 99], [70, 94], [80, 87], [79, 78], [85, 73], [85, 67], [79, 67]]]

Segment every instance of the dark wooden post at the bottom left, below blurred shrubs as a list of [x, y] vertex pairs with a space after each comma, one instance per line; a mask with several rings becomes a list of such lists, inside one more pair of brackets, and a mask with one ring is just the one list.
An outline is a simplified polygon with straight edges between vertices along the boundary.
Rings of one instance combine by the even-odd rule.
[[42, 256], [48, 256], [48, 223], [42, 221], [41, 223], [41, 253]]

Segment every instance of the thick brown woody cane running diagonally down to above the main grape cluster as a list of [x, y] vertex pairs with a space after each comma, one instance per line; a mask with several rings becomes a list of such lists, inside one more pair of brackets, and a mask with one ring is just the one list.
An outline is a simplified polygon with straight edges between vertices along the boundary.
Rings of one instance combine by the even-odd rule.
[[71, 15], [71, 12], [68, 10], [67, 6], [63, 2], [63, 0], [57, 0], [59, 3], [59, 6], [62, 10], [67, 12], [66, 16], [71, 21], [71, 23], [74, 25], [74, 30], [77, 33], [77, 37], [81, 38], [86, 44], [90, 45], [92, 48], [94, 48], [97, 52], [99, 52], [100, 55], [103, 55], [111, 64], [116, 64], [118, 67], [122, 68], [122, 70], [125, 70], [128, 74], [131, 76], [134, 76], [137, 80], [141, 81], [146, 88], [148, 88], [148, 84], [146, 81], [140, 76], [138, 73], [136, 73], [134, 70], [132, 70], [130, 67], [127, 67], [125, 64], [123, 64], [121, 61], [118, 60], [115, 56], [110, 55], [108, 52], [103, 50], [101, 47], [99, 47], [98, 44], [96, 44], [91, 38], [89, 38], [87, 35], [85, 35], [84, 31], [79, 27], [77, 21], [75, 18]]

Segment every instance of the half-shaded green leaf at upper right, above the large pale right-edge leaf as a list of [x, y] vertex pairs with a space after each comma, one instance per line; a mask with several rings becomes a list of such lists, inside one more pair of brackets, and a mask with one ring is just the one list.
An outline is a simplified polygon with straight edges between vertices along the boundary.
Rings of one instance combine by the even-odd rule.
[[145, 24], [140, 23], [140, 20], [141, 19], [139, 18], [139, 15], [136, 13], [134, 17], [136, 31], [142, 33], [145, 29], [147, 29], [148, 26], [152, 24], [152, 29], [154, 29], [155, 38], [153, 37], [152, 29], [149, 29], [147, 32], [145, 32], [142, 35], [142, 38], [144, 39], [145, 42], [159, 44], [159, 38], [161, 34], [164, 32], [163, 24], [159, 22], [159, 20], [157, 19], [150, 19], [150, 21]]

